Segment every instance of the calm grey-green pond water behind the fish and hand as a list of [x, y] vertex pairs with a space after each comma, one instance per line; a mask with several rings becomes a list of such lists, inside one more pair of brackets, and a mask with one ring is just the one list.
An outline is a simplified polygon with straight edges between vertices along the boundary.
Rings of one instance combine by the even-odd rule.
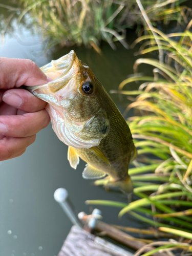
[[[4, 3], [5, 4], [5, 3]], [[1, 13], [7, 10], [2, 8]], [[6, 14], [7, 15], [7, 14]], [[136, 37], [129, 31], [130, 42]], [[9, 58], [30, 58], [43, 66], [51, 59], [67, 54], [71, 48], [54, 49], [46, 52], [40, 38], [25, 26], [18, 29], [13, 22], [13, 31], [1, 38], [0, 56]], [[109, 92], [117, 89], [119, 83], [133, 73], [136, 49], [126, 50], [117, 44], [113, 51], [102, 44], [102, 56], [92, 49], [74, 47], [77, 56], [86, 62]], [[148, 67], [146, 67], [148, 69]], [[135, 84], [133, 84], [133, 88]], [[118, 95], [111, 95], [120, 111], [128, 101]], [[36, 141], [27, 148], [24, 155], [0, 164], [0, 255], [2, 256], [54, 256], [72, 226], [71, 222], [53, 199], [59, 187], [68, 190], [77, 212], [89, 212], [92, 206], [86, 200], [104, 199], [127, 202], [120, 193], [109, 193], [82, 179], [85, 163], [80, 161], [77, 170], [67, 160], [68, 146], [54, 134], [51, 124], [37, 134]], [[143, 224], [132, 217], [118, 220], [120, 209], [97, 206], [102, 210], [103, 221], [117, 225], [143, 228]]]

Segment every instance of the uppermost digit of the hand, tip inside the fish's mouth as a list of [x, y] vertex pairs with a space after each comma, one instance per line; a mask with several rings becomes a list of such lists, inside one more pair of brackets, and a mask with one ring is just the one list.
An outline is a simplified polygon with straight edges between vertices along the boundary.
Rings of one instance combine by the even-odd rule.
[[30, 59], [0, 57], [0, 89], [38, 86], [47, 83], [47, 76]]

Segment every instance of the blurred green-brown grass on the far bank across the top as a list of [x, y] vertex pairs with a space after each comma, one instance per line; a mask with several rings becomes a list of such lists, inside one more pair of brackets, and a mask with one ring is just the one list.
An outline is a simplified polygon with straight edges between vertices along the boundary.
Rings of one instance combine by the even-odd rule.
[[[182, 0], [142, 1], [153, 24], [160, 20], [168, 23], [177, 20], [187, 22], [190, 11], [180, 6]], [[107, 41], [115, 50], [115, 41], [128, 48], [126, 28], [145, 25], [136, 0], [20, 0], [23, 11], [18, 22], [30, 13], [33, 22], [44, 38], [49, 38], [49, 47], [85, 45], [100, 52], [102, 40]]]

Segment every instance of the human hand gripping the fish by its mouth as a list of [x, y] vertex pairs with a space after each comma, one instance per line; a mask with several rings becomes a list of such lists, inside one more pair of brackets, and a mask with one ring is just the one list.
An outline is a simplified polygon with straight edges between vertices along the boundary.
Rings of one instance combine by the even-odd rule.
[[49, 124], [47, 102], [18, 89], [46, 83], [32, 60], [0, 57], [0, 161], [24, 154], [36, 133]]

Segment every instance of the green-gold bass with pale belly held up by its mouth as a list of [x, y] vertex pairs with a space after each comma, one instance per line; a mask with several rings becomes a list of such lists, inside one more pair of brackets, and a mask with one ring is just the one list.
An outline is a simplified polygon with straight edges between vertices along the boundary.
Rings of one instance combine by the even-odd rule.
[[40, 69], [53, 80], [26, 89], [48, 102], [53, 130], [69, 146], [71, 167], [81, 158], [87, 163], [83, 178], [103, 178], [105, 187], [132, 193], [128, 169], [137, 156], [132, 134], [92, 70], [73, 50]]

